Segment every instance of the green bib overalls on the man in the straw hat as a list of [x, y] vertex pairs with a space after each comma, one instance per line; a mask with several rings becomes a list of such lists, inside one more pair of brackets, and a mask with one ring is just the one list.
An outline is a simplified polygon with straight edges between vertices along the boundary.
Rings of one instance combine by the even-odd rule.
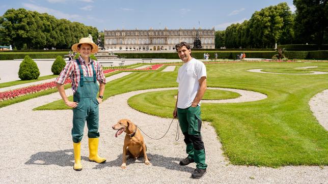
[[73, 101], [77, 102], [78, 105], [76, 108], [73, 108], [72, 137], [73, 142], [78, 143], [83, 137], [86, 120], [88, 126], [88, 137], [99, 137], [99, 103], [97, 100], [99, 86], [97, 84], [96, 71], [93, 62], [91, 63], [93, 77], [84, 76], [79, 60], [76, 59], [76, 62], [80, 70], [80, 82], [73, 95]]

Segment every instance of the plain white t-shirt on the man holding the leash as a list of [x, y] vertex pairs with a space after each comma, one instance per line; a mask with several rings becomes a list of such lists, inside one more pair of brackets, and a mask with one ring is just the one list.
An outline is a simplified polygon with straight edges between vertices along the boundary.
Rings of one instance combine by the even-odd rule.
[[177, 77], [179, 83], [178, 108], [185, 109], [192, 105], [200, 87], [198, 80], [204, 76], [206, 77], [206, 67], [203, 62], [195, 58], [180, 67]]

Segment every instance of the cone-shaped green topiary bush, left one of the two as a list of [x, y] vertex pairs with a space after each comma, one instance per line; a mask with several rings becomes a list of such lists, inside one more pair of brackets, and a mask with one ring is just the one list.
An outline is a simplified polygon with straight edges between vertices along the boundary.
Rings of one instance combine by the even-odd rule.
[[37, 79], [40, 76], [40, 71], [34, 60], [26, 55], [24, 60], [19, 65], [18, 77], [21, 80]]

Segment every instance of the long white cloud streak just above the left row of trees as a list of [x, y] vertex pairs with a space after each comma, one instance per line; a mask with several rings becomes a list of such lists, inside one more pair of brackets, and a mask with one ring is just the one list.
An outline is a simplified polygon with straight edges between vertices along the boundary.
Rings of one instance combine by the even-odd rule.
[[41, 7], [41, 6], [29, 4], [29, 3], [23, 3], [22, 5], [25, 8], [29, 9], [29, 10], [37, 11], [39, 13], [48, 13], [50, 15], [53, 15], [53, 16], [57, 17], [57, 18], [65, 18], [65, 19], [79, 19], [79, 18], [81, 18], [81, 16], [76, 15], [76, 14], [67, 14], [67, 13], [63, 13], [63, 12], [58, 11], [58, 10], [53, 10], [51, 8]]

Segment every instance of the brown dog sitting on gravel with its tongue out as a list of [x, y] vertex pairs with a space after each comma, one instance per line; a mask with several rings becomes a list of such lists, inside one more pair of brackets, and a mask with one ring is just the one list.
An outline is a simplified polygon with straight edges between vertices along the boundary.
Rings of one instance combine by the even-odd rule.
[[138, 159], [139, 157], [144, 157], [145, 164], [150, 165], [150, 162], [146, 155], [146, 144], [144, 137], [136, 126], [128, 119], [119, 120], [113, 127], [114, 130], [118, 130], [115, 137], [119, 136], [123, 132], [126, 132], [123, 145], [123, 163], [121, 167], [126, 168], [126, 158], [128, 155], [130, 158]]

